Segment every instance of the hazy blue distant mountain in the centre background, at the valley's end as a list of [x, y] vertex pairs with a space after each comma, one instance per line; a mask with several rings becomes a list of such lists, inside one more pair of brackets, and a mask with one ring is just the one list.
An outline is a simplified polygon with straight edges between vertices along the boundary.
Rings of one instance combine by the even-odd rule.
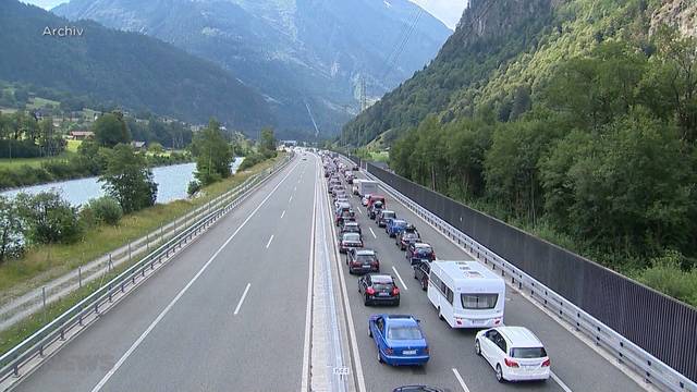
[[264, 95], [282, 130], [301, 134], [315, 133], [313, 118], [335, 134], [357, 112], [362, 78], [368, 98], [379, 97], [451, 34], [408, 0], [72, 0], [52, 11], [212, 60]]

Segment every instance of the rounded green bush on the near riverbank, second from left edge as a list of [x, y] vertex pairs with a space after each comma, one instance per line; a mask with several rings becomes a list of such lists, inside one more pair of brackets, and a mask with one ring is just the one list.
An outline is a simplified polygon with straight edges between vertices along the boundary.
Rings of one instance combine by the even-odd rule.
[[24, 236], [34, 244], [73, 243], [82, 226], [77, 209], [56, 192], [16, 196]]

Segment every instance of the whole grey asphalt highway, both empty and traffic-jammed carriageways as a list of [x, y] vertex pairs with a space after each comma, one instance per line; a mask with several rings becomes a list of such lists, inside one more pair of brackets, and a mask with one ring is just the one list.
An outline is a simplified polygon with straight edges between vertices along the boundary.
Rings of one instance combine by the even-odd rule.
[[[313, 235], [315, 213], [333, 228], [318, 160], [309, 154], [307, 160], [294, 159], [100, 320], [47, 358], [15, 390], [302, 390], [306, 369], [311, 369], [306, 354], [308, 301], [313, 298], [308, 295], [310, 266], [318, 261], [313, 261], [313, 247], [332, 249], [323, 257], [329, 257], [328, 266], [337, 268], [331, 274], [332, 286], [338, 319], [346, 327], [341, 334], [344, 354], [351, 353], [355, 362], [351, 372], [357, 381], [356, 391], [391, 391], [415, 383], [464, 392], [643, 390], [511, 286], [506, 289], [505, 323], [528, 327], [542, 340], [554, 379], [497, 382], [493, 370], [474, 353], [474, 331], [453, 330], [438, 319], [394, 240], [369, 221], [358, 198], [352, 197], [365, 246], [379, 253], [381, 271], [398, 278], [402, 289], [398, 308], [364, 306], [356, 291], [357, 277], [347, 273], [343, 256], [337, 253], [334, 230], [329, 235]], [[388, 194], [386, 197], [388, 208], [414, 223], [439, 259], [472, 259]], [[325, 207], [317, 208], [319, 203]], [[346, 302], [342, 301], [343, 287]], [[342, 307], [345, 303], [348, 308]], [[392, 368], [378, 363], [375, 344], [367, 335], [367, 320], [370, 314], [383, 311], [413, 314], [421, 320], [431, 348], [426, 367]]]

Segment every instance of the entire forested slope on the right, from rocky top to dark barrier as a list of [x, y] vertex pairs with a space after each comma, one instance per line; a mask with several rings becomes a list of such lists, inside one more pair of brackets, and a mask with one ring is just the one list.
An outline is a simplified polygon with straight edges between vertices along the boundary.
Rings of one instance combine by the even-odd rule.
[[399, 174], [697, 304], [695, 20], [684, 0], [473, 0], [340, 143], [391, 142]]

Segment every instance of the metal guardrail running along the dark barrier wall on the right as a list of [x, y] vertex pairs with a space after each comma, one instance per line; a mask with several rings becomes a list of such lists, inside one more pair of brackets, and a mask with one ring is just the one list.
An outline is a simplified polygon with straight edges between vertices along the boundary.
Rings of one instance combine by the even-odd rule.
[[[603, 347], [617, 362], [634, 369], [647, 383], [668, 391], [697, 392], [697, 383], [687, 377], [665, 365], [604, 323], [598, 321], [561, 295], [549, 290], [539, 281], [525, 273], [525, 271], [481, 246], [467, 234], [402, 195], [377, 176], [370, 174], [367, 170], [365, 170], [365, 174], [371, 180], [377, 181], [380, 186], [388, 191], [394, 198], [437, 228], [443, 235], [456, 242], [466, 252], [476, 256], [485, 264], [490, 265], [492, 269], [501, 271], [501, 275], [510, 278], [513, 284], [517, 284], [518, 290], [529, 293], [533, 298], [551, 309], [560, 319], [570, 323], [576, 331], [590, 338], [595, 341], [596, 345]], [[695, 355], [697, 356], [697, 353]]]

